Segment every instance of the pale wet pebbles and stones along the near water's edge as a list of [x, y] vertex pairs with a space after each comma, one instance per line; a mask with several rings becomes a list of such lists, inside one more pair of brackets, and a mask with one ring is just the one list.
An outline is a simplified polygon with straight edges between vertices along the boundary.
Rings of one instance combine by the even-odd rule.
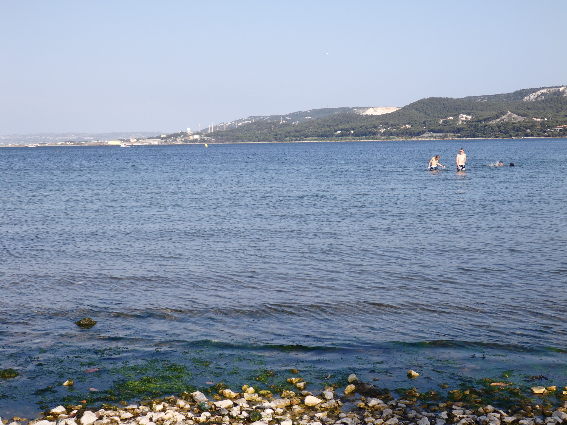
[[[412, 377], [413, 371], [408, 371]], [[409, 389], [402, 398], [394, 398], [386, 389], [363, 383], [356, 375], [339, 390], [335, 386], [311, 393], [300, 377], [287, 382], [297, 391], [257, 391], [243, 385], [234, 392], [225, 385], [215, 386], [217, 393], [206, 396], [200, 391], [179, 396], [143, 400], [128, 405], [103, 405], [89, 409], [82, 405], [57, 406], [40, 418], [14, 417], [1, 420], [3, 425], [557, 425], [567, 423], [567, 387], [534, 386], [535, 396], [555, 395], [556, 402], [544, 399], [540, 404], [519, 395], [516, 405], [498, 408], [481, 403], [474, 389], [452, 390], [450, 400], [424, 403], [435, 392], [420, 394]], [[73, 385], [72, 383], [70, 385]], [[509, 384], [491, 383], [495, 390]], [[519, 390], [519, 389], [517, 389]], [[399, 392], [399, 390], [398, 390]], [[212, 400], [210, 400], [212, 398]], [[522, 400], [518, 402], [518, 400]]]

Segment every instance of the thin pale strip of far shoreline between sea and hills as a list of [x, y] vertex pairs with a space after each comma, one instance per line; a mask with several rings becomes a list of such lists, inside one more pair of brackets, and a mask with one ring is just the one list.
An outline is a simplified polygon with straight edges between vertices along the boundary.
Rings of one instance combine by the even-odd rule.
[[[347, 139], [347, 140], [300, 140], [300, 141], [272, 141], [272, 142], [198, 142], [198, 143], [160, 143], [159, 145], [134, 145], [137, 146], [187, 146], [187, 145], [251, 145], [257, 143], [321, 143], [321, 142], [400, 142], [400, 141], [445, 141], [445, 140], [510, 140], [510, 139], [567, 139], [565, 136], [545, 136], [545, 137], [501, 137], [501, 138], [443, 138], [443, 139], [426, 139], [426, 138], [413, 138], [413, 139]], [[84, 147], [84, 146], [108, 146], [120, 147], [120, 145], [39, 145], [36, 147]], [[30, 147], [29, 145], [7, 146], [0, 145], [0, 147]]]

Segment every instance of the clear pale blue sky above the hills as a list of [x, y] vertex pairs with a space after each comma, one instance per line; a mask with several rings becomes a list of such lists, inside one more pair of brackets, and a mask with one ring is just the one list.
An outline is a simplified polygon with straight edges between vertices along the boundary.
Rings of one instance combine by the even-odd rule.
[[565, 0], [0, 6], [0, 134], [179, 131], [567, 84]]

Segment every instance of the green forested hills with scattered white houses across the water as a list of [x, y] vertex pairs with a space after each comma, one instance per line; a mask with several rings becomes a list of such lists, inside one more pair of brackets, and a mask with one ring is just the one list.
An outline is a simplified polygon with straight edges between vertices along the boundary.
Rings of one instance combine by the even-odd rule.
[[[542, 89], [550, 90], [544, 90], [541, 95]], [[543, 100], [523, 100], [530, 95]], [[314, 116], [314, 119], [303, 122], [252, 120], [239, 125], [238, 128], [214, 131], [203, 136], [207, 139], [214, 138], [217, 142], [272, 142], [353, 138], [502, 138], [567, 135], [567, 127], [553, 129], [567, 125], [567, 92], [561, 86], [462, 99], [428, 97], [395, 112], [378, 116], [359, 115], [350, 111], [354, 111], [354, 108], [344, 110], [345, 112], [333, 111], [332, 114], [321, 118]], [[498, 121], [508, 112], [512, 113], [507, 116], [507, 119], [512, 117], [510, 121]], [[495, 120], [497, 122], [492, 122]]]

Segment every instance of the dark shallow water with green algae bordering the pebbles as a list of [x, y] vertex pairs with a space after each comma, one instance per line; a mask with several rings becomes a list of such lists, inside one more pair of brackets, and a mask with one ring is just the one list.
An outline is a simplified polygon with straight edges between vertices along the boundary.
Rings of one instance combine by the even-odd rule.
[[[261, 351], [264, 347], [254, 352], [236, 350], [234, 345], [202, 342], [189, 348], [187, 345], [178, 347], [174, 343], [163, 343], [159, 347], [147, 347], [145, 351], [136, 347], [80, 349], [60, 345], [49, 350], [14, 352], [10, 355], [9, 364], [18, 369], [20, 376], [6, 381], [0, 407], [5, 406], [3, 400], [38, 403], [41, 406], [79, 404], [86, 400], [86, 405], [93, 406], [97, 403], [134, 402], [195, 389], [214, 395], [221, 385], [237, 391], [242, 384], [248, 384], [256, 391], [270, 390], [273, 394], [284, 389], [297, 392], [297, 388], [286, 379], [298, 376], [309, 383], [308, 390], [315, 391], [328, 386], [344, 387], [350, 373], [356, 373], [366, 382], [379, 378], [379, 382], [374, 384], [382, 388], [400, 387], [400, 392], [396, 390], [400, 396], [409, 397], [405, 392], [412, 390], [419, 394], [414, 397], [420, 397], [419, 400], [424, 403], [447, 399], [456, 401], [458, 398], [472, 405], [519, 406], [532, 400], [530, 385], [527, 385], [523, 373], [548, 376], [547, 385], [565, 385], [562, 379], [565, 362], [561, 353], [538, 358], [532, 355], [529, 360], [526, 359], [527, 354], [521, 354], [514, 362], [522, 363], [514, 363], [510, 362], [510, 357], [489, 357], [488, 349], [484, 350], [486, 359], [481, 358], [478, 352], [477, 357], [471, 359], [468, 351], [456, 354], [445, 349], [421, 352], [410, 345], [405, 347], [407, 350], [404, 352], [411, 353], [402, 359], [399, 350], [392, 350], [388, 355], [369, 350], [365, 351], [365, 356], [351, 356], [349, 360], [341, 357], [341, 354], [344, 355], [342, 350], [327, 350], [325, 354], [329, 357], [325, 358], [320, 351], [304, 350], [301, 346], [295, 351], [290, 346], [285, 346], [285, 350], [270, 347], [269, 351]], [[510, 356], [516, 356], [514, 350], [510, 353]], [[378, 364], [388, 366], [377, 369]], [[409, 383], [405, 373], [408, 368], [413, 368], [411, 365], [419, 366], [416, 370], [421, 376]], [[100, 370], [86, 372], [88, 368]], [[299, 375], [291, 373], [290, 368], [297, 369]], [[491, 379], [485, 383], [467, 375], [489, 376]], [[67, 379], [74, 379], [74, 388], [62, 386]], [[210, 384], [211, 381], [214, 384]], [[510, 388], [490, 386], [497, 381], [514, 385]], [[446, 384], [453, 391], [458, 388], [458, 392], [443, 391], [439, 383]], [[408, 385], [412, 388], [404, 388]], [[414, 385], [420, 389], [413, 388]], [[100, 391], [91, 392], [89, 387]], [[512, 387], [519, 388], [521, 394]], [[560, 398], [558, 393], [550, 394], [548, 399]]]

